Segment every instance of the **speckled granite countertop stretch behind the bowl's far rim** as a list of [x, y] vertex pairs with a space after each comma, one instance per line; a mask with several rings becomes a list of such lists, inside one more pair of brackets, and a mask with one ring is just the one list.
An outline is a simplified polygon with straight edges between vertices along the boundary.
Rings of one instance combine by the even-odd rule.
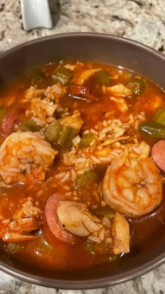
[[54, 27], [22, 29], [20, 1], [0, 0], [0, 51], [33, 38], [99, 31], [134, 38], [165, 51], [164, 0], [50, 0]]

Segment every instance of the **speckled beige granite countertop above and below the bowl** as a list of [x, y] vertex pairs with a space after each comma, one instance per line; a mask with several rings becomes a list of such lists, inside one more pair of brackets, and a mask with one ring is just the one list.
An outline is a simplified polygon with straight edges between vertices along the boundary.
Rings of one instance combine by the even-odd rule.
[[[24, 31], [20, 1], [0, 0], [0, 52], [41, 36], [97, 31], [133, 38], [165, 53], [164, 0], [50, 0], [53, 28]], [[55, 290], [0, 274], [1, 294], [163, 294], [165, 265], [137, 279], [98, 290]]]

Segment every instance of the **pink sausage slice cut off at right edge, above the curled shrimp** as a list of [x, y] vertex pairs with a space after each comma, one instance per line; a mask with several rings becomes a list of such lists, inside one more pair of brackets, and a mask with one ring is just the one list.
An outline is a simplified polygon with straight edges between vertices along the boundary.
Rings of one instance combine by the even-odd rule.
[[165, 140], [158, 141], [152, 147], [151, 155], [159, 169], [165, 172]]

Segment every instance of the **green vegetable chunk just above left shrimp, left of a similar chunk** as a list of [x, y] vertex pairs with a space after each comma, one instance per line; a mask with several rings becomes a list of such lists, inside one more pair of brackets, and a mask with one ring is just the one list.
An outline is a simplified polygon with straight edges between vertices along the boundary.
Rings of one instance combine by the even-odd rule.
[[57, 142], [59, 133], [62, 130], [62, 125], [58, 120], [53, 120], [50, 125], [48, 125], [47, 130], [45, 131], [45, 140], [50, 143]]

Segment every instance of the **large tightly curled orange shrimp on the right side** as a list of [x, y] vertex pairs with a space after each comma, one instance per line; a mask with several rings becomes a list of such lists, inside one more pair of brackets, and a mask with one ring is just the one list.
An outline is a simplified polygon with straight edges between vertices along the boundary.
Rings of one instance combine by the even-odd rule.
[[162, 175], [151, 158], [115, 160], [103, 179], [108, 206], [131, 217], [152, 211], [162, 201]]

